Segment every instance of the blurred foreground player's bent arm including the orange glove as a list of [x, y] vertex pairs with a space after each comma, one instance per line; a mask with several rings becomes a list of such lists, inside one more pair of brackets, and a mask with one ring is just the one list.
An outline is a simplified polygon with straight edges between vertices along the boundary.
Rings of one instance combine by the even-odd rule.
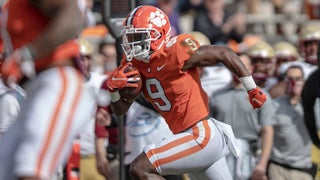
[[[75, 38], [85, 25], [77, 0], [30, 0], [33, 6], [48, 17], [49, 23], [32, 42], [16, 49], [1, 68], [4, 83], [14, 83], [35, 77], [34, 60], [50, 54], [58, 45]], [[64, 61], [71, 65], [71, 62]]]

